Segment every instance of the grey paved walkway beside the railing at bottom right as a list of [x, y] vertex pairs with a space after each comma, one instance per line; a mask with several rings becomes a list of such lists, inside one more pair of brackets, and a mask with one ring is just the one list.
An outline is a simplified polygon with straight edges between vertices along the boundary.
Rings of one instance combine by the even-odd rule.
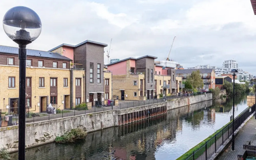
[[230, 146], [228, 146], [218, 160], [237, 160], [237, 154], [243, 149], [243, 144], [246, 140], [256, 140], [256, 120], [254, 116], [238, 132], [235, 138], [235, 150], [231, 150], [232, 143], [230, 143]]

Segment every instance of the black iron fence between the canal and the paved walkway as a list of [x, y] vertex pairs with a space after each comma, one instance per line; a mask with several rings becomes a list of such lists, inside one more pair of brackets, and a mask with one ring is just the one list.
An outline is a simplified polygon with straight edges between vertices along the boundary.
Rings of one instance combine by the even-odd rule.
[[[246, 108], [241, 114], [239, 114], [234, 119], [234, 130], [238, 127], [255, 111], [255, 104]], [[189, 150], [187, 153], [183, 154], [178, 160], [208, 160], [220, 146], [223, 145], [224, 141], [229, 139], [232, 135], [233, 124], [232, 121], [226, 126], [215, 132], [212, 136], [208, 138], [205, 142], [193, 150]]]

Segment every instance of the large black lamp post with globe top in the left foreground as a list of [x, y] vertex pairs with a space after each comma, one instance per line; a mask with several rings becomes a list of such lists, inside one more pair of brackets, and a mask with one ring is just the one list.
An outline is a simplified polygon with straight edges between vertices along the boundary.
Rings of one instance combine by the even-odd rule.
[[42, 23], [39, 16], [30, 8], [17, 6], [6, 12], [3, 19], [4, 32], [19, 45], [19, 160], [25, 160], [25, 114], [26, 114], [26, 45], [41, 33]]

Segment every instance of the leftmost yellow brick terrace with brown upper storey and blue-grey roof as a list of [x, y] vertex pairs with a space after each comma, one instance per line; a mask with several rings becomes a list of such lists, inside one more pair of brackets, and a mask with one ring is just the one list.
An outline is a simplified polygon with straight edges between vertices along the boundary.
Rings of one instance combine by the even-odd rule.
[[[50, 103], [64, 109], [70, 108], [72, 102], [82, 102], [84, 70], [70, 68], [70, 61], [70, 58], [54, 52], [27, 50], [26, 107], [30, 112], [46, 111]], [[0, 109], [17, 108], [18, 48], [0, 46], [0, 82]]]

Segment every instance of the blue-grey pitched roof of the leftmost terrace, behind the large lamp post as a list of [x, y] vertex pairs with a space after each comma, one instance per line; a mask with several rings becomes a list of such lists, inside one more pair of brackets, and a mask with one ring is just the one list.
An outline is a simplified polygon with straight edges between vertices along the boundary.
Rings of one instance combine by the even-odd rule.
[[[10, 46], [0, 46], [0, 53], [5, 54], [19, 54], [19, 48], [17, 47], [10, 47]], [[30, 50], [27, 49], [27, 56], [35, 56], [35, 57], [42, 57], [42, 58], [53, 58], [53, 59], [59, 59], [59, 60], [71, 60], [68, 57], [62, 56], [58, 53], [54, 52], [46, 52], [41, 50]]]

